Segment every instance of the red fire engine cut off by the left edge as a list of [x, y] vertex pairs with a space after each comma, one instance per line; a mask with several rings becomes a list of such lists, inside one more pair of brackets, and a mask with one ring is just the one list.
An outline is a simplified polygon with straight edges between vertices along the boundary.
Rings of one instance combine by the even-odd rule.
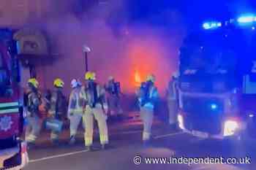
[[19, 63], [12, 31], [0, 29], [0, 169], [23, 169], [29, 162], [23, 133]]

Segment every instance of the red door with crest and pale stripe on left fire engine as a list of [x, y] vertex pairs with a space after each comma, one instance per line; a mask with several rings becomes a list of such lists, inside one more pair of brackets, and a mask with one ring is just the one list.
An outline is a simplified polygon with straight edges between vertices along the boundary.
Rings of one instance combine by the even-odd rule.
[[0, 44], [0, 139], [20, 134], [19, 89], [12, 83], [11, 57]]

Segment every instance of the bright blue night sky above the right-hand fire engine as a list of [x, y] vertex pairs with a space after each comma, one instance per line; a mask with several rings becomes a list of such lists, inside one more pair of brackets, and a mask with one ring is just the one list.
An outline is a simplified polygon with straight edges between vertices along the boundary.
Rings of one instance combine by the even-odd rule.
[[[189, 27], [197, 26], [203, 20], [221, 19], [234, 17], [244, 12], [255, 12], [256, 1], [250, 0], [179, 0], [179, 1], [144, 1], [129, 0], [129, 19], [131, 22], [144, 22], [153, 15], [167, 10], [174, 10], [182, 16], [183, 22]], [[151, 23], [161, 23], [158, 20], [151, 20]], [[162, 20], [162, 24], [165, 22]]]

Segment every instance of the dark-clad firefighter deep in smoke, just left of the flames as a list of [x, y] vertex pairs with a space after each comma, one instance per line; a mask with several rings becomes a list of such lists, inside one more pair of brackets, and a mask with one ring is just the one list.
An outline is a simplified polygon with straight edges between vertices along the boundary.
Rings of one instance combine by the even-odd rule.
[[105, 89], [108, 92], [107, 100], [110, 116], [119, 117], [123, 112], [120, 104], [120, 82], [116, 82], [114, 77], [110, 76]]

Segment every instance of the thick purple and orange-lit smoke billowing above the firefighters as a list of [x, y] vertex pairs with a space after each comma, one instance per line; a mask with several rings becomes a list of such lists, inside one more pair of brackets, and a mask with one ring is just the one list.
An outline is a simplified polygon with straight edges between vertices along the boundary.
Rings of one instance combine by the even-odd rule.
[[[41, 80], [45, 81], [44, 88], [51, 88], [54, 78], [61, 77], [66, 82], [65, 91], [69, 92], [72, 78], [83, 80], [85, 58], [82, 47], [88, 45], [92, 50], [89, 69], [97, 72], [99, 82], [106, 82], [111, 75], [121, 81], [125, 93], [134, 93], [139, 83], [135, 74], [139, 81], [143, 81], [152, 73], [157, 77], [159, 90], [165, 91], [171, 73], [177, 69], [178, 47], [184, 34], [180, 31], [177, 12], [154, 15], [151, 20], [166, 18], [169, 25], [153, 27], [145, 23], [128, 25], [128, 18], [124, 17], [126, 8], [120, 0], [91, 5], [86, 12], [76, 9], [78, 4], [74, 1], [49, 2], [48, 15], [42, 19], [42, 25], [59, 56], [52, 65], [39, 71]], [[122, 23], [118, 26], [118, 34], [113, 27], [115, 24], [110, 24], [115, 20]]]

